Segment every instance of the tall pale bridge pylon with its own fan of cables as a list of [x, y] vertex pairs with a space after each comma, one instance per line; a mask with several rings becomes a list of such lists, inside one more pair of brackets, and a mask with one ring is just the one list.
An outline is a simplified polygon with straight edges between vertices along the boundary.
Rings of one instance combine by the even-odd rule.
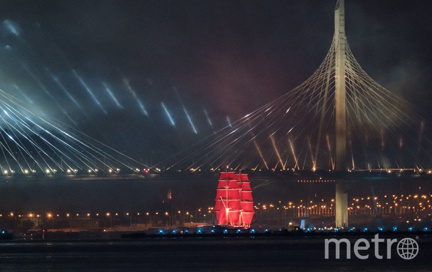
[[[414, 107], [356, 61], [345, 36], [344, 1], [338, 0], [333, 41], [313, 75], [177, 154], [171, 167], [423, 171], [431, 164], [428, 139]], [[336, 182], [336, 227], [348, 224], [346, 179]]]

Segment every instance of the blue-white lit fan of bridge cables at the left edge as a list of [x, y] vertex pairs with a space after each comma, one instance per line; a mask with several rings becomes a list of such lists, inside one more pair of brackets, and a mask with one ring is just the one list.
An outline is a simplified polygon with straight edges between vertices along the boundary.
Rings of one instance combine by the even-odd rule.
[[4, 175], [49, 175], [148, 167], [0, 90], [0, 169]]

